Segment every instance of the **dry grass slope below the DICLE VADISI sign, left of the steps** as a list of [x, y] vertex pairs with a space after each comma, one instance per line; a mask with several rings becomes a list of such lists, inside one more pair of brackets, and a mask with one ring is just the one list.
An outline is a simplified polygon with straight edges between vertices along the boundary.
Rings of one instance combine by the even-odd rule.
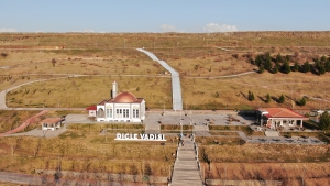
[[[80, 124], [82, 125], [82, 124]], [[29, 136], [0, 139], [0, 169], [33, 173], [33, 169], [142, 174], [146, 166], [152, 175], [168, 176], [176, 143], [118, 142], [114, 133], [98, 135], [105, 125], [72, 127], [53, 139]], [[110, 129], [111, 127], [109, 127]]]

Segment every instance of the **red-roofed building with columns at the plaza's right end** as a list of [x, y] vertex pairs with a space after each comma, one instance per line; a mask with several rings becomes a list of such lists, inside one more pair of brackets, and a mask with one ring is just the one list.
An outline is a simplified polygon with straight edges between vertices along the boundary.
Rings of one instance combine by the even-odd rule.
[[302, 128], [304, 120], [308, 120], [308, 118], [287, 108], [257, 109], [257, 121], [261, 125], [266, 125], [271, 129], [276, 129], [278, 127]]

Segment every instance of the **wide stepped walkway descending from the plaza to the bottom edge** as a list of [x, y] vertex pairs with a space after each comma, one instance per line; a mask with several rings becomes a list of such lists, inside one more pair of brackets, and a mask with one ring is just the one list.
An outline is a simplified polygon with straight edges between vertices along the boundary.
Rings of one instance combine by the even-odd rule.
[[185, 136], [183, 140], [185, 143], [184, 146], [178, 146], [170, 185], [201, 186], [202, 180], [195, 151], [196, 143], [191, 139]]

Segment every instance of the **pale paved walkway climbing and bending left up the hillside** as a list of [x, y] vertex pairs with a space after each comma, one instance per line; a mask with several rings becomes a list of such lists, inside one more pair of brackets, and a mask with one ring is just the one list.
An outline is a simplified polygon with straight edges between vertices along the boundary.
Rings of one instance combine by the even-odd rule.
[[167, 69], [172, 74], [173, 110], [183, 110], [183, 95], [179, 74], [174, 68], [172, 68], [166, 62], [160, 61], [153, 53], [143, 48], [136, 50], [146, 54], [153, 61], [158, 62], [165, 69]]

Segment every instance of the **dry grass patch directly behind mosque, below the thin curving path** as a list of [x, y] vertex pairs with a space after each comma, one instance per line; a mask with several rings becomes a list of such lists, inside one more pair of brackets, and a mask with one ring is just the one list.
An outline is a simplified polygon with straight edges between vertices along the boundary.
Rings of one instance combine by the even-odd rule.
[[110, 99], [113, 81], [119, 91], [130, 91], [146, 100], [146, 107], [169, 108], [170, 78], [128, 76], [85, 76], [23, 86], [7, 94], [8, 107], [84, 108]]

